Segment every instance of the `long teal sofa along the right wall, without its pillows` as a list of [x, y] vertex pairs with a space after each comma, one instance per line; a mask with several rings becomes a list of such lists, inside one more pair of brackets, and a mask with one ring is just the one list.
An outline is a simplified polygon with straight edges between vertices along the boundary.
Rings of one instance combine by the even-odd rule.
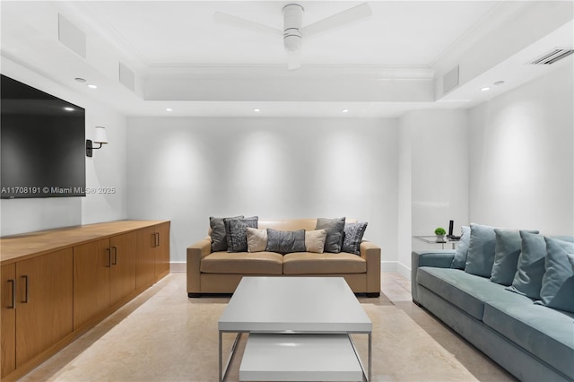
[[413, 301], [522, 381], [574, 381], [574, 313], [453, 267], [454, 258], [455, 250], [413, 251]]

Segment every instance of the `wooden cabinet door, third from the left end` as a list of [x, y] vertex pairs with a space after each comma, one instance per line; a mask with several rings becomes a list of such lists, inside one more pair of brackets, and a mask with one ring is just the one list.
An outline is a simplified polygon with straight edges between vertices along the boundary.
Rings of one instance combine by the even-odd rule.
[[109, 308], [109, 239], [74, 247], [74, 329]]

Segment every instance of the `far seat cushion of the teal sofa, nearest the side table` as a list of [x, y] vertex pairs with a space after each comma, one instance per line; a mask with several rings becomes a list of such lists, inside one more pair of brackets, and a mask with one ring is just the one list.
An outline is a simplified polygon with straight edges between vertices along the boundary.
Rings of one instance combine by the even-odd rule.
[[422, 266], [416, 281], [477, 320], [483, 319], [485, 300], [525, 301], [532, 305], [532, 300], [505, 291], [503, 285], [459, 269]]

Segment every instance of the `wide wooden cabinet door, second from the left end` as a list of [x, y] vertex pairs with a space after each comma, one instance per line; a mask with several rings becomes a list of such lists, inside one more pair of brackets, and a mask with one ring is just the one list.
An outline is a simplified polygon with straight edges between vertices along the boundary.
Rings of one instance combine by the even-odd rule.
[[16, 263], [16, 367], [74, 330], [73, 250]]

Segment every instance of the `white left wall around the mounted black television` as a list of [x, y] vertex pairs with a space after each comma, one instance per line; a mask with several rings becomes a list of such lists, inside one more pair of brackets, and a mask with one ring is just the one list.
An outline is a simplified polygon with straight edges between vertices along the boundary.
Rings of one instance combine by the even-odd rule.
[[0, 200], [2, 236], [126, 218], [126, 117], [2, 57], [2, 74], [86, 109], [86, 139], [106, 126], [109, 144], [86, 158], [86, 187], [116, 187], [113, 195]]

